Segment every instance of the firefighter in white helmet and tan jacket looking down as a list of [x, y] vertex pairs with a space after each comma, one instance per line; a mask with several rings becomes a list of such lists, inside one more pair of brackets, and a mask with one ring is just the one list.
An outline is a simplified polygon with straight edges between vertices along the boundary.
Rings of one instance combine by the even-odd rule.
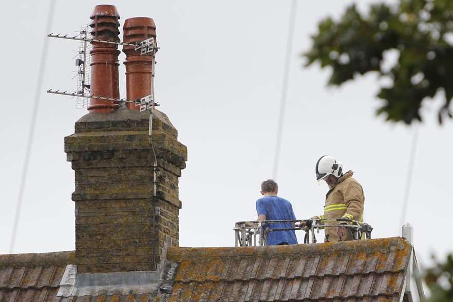
[[[362, 185], [352, 175], [352, 171], [343, 173], [343, 164], [333, 157], [325, 155], [319, 158], [316, 163], [316, 180], [318, 183], [326, 181], [329, 191], [324, 214], [312, 219], [348, 218], [363, 222], [365, 196]], [[341, 225], [337, 228], [326, 228], [325, 234], [325, 242], [352, 240], [351, 232]]]

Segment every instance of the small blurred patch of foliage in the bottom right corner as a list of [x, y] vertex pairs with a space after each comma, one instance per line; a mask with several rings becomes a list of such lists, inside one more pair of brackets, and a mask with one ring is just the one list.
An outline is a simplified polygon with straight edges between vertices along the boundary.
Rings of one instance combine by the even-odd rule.
[[435, 259], [435, 266], [426, 271], [425, 282], [431, 290], [428, 302], [453, 301], [453, 254], [444, 263]]

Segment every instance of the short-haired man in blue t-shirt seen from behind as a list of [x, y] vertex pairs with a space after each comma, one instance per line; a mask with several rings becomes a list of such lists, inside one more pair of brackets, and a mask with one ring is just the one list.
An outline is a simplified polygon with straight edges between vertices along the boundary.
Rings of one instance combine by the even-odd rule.
[[[261, 195], [264, 197], [256, 201], [256, 212], [258, 220], [295, 220], [291, 203], [277, 196], [278, 184], [272, 179], [261, 183]], [[270, 229], [293, 228], [292, 222], [268, 223]], [[266, 226], [265, 226], [266, 228]], [[279, 246], [281, 244], [297, 244], [294, 230], [269, 232], [267, 237], [268, 246]]]

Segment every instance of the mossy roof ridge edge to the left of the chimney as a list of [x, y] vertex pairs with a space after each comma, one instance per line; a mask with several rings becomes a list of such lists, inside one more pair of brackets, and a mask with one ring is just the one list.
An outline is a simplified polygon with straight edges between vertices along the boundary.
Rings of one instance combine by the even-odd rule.
[[75, 263], [75, 251], [0, 255], [0, 268], [66, 266]]

